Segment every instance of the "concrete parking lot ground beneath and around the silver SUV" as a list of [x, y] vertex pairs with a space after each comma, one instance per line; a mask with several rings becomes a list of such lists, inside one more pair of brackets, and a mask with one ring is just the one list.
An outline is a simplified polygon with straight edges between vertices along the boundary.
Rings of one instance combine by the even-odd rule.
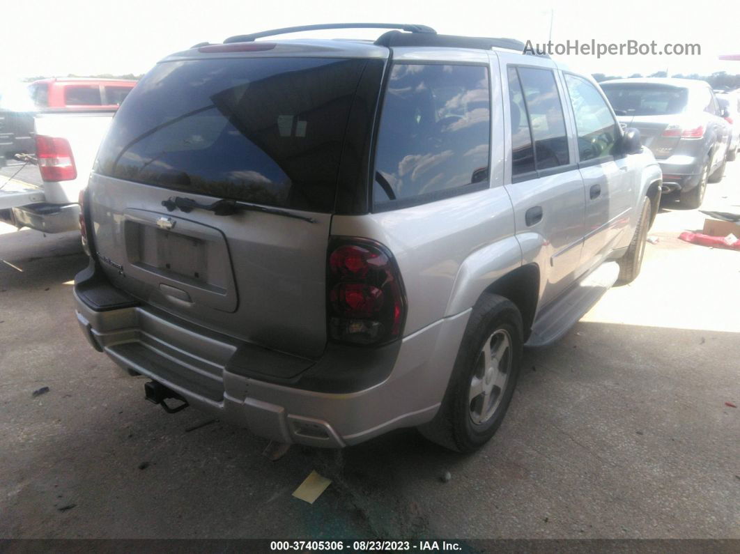
[[[704, 206], [739, 209], [740, 161]], [[145, 402], [78, 329], [76, 234], [6, 226], [0, 537], [740, 538], [740, 252], [678, 240], [703, 220], [664, 203], [638, 280], [525, 354], [478, 453], [399, 430], [277, 462], [246, 430]], [[333, 482], [311, 505], [291, 493], [313, 469]]]

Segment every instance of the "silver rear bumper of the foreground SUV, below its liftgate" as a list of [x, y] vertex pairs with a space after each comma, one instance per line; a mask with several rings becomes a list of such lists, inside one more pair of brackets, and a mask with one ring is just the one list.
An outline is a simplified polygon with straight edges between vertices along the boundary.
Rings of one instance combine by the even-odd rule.
[[470, 314], [445, 318], [404, 338], [382, 382], [357, 392], [326, 393], [229, 371], [229, 359], [238, 350], [234, 340], [198, 332], [155, 309], [138, 305], [95, 311], [76, 290], [75, 300], [90, 344], [121, 368], [161, 382], [193, 407], [259, 436], [319, 447], [354, 445], [430, 421]]

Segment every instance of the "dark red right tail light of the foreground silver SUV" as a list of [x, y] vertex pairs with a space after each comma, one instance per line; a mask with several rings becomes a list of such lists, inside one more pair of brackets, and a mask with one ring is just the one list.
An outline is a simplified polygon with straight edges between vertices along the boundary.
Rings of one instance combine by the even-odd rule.
[[326, 319], [337, 342], [381, 345], [396, 340], [406, 320], [406, 295], [393, 254], [374, 240], [329, 242]]

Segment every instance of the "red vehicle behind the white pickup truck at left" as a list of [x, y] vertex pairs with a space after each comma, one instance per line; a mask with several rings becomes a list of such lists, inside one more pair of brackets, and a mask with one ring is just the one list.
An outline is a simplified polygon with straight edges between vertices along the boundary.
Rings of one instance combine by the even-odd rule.
[[116, 109], [135, 84], [127, 79], [49, 78], [33, 81], [30, 91], [39, 108]]

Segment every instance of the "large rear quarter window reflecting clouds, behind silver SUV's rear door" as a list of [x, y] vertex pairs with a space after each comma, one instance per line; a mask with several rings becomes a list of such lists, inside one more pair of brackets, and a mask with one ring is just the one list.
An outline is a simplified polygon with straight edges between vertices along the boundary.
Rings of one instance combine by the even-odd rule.
[[490, 104], [487, 67], [394, 65], [380, 117], [374, 202], [432, 200], [488, 181]]

